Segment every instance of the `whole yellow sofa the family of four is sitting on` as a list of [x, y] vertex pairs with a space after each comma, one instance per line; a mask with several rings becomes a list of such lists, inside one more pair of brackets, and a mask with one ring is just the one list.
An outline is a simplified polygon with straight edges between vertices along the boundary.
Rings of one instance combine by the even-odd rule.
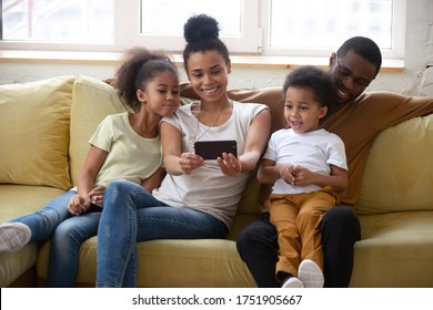
[[[190, 89], [182, 95], [189, 97]], [[281, 89], [232, 90], [262, 102], [272, 128], [283, 126]], [[123, 111], [115, 91], [89, 76], [54, 76], [0, 85], [0, 223], [42, 208], [77, 184], [102, 118]], [[382, 132], [374, 141], [355, 210], [351, 287], [433, 287], [433, 115]], [[252, 175], [226, 239], [140, 242], [139, 287], [254, 287], [234, 239], [258, 217]], [[97, 237], [80, 250], [78, 287], [95, 279]], [[0, 254], [0, 287], [43, 287], [50, 242]]]

